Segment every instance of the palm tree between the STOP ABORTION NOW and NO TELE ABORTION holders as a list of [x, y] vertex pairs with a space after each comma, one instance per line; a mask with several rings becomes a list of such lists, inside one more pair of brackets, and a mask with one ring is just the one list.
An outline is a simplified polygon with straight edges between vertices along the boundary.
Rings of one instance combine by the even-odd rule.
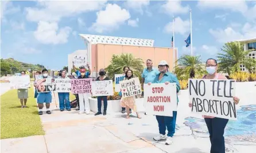
[[175, 66], [174, 73], [181, 80], [205, 74], [200, 56], [183, 55], [177, 62], [179, 64]]

